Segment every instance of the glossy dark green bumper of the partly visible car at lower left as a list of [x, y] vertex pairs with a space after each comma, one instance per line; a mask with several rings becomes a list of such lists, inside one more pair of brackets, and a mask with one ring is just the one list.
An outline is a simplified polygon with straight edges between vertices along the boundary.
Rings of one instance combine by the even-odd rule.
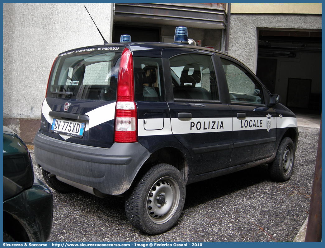
[[[4, 201], [3, 211], [20, 222], [31, 242], [45, 242], [50, 236], [53, 220], [53, 195], [50, 189], [37, 178], [34, 179], [32, 188]], [[11, 224], [10, 221], [9, 223], [4, 221], [4, 229], [11, 230], [15, 234], [18, 227], [10, 226]], [[12, 236], [14, 237], [14, 235]]]

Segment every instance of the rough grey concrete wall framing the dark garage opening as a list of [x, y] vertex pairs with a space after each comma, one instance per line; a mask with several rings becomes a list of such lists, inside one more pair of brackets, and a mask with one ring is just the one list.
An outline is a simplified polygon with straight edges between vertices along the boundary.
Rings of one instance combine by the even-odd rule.
[[229, 55], [236, 57], [256, 73], [259, 30], [321, 29], [321, 15], [231, 14]]

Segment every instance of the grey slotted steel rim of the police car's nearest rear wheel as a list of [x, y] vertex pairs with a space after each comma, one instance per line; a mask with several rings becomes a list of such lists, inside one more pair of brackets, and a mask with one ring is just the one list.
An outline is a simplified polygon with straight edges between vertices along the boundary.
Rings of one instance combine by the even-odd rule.
[[147, 213], [150, 220], [163, 224], [170, 220], [178, 207], [180, 192], [178, 183], [171, 177], [162, 177], [150, 188], [147, 196]]

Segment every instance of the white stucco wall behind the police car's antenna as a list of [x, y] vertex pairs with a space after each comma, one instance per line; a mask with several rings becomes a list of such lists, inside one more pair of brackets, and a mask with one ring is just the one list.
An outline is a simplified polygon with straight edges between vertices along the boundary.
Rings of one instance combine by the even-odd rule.
[[111, 42], [112, 4], [3, 4], [3, 114], [40, 118], [51, 66], [66, 50]]

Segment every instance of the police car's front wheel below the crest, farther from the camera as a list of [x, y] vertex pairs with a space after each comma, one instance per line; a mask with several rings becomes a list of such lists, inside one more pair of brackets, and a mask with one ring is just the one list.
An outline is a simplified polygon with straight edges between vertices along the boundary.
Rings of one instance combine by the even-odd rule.
[[289, 137], [280, 142], [277, 154], [269, 165], [270, 177], [279, 182], [290, 179], [294, 164], [294, 144]]

